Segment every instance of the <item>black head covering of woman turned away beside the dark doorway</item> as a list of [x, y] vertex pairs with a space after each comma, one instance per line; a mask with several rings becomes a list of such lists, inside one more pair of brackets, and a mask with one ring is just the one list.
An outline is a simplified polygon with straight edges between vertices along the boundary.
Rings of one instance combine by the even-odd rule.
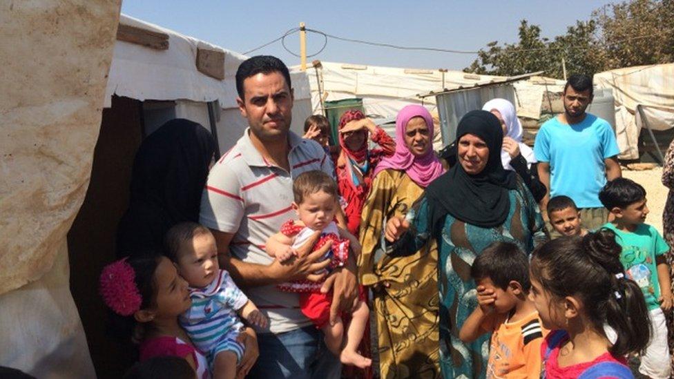
[[117, 229], [117, 255], [159, 252], [164, 234], [198, 222], [215, 141], [200, 124], [173, 119], [144, 139], [133, 162], [128, 210]]

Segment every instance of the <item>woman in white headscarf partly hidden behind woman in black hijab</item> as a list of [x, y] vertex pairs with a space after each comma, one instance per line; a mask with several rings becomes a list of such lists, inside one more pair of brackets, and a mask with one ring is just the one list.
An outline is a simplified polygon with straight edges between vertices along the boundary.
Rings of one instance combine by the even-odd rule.
[[515, 107], [506, 99], [487, 101], [482, 110], [491, 112], [501, 122], [503, 128], [503, 147], [501, 163], [506, 170], [514, 171], [522, 177], [536, 202], [546, 195], [546, 186], [538, 179], [534, 151], [522, 142], [522, 124], [520, 124]]

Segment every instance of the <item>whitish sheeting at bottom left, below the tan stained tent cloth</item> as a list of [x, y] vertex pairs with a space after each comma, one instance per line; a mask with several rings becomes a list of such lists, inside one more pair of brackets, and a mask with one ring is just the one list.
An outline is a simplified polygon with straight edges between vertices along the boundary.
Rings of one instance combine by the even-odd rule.
[[95, 378], [69, 278], [63, 240], [48, 273], [0, 295], [0, 366], [36, 378]]

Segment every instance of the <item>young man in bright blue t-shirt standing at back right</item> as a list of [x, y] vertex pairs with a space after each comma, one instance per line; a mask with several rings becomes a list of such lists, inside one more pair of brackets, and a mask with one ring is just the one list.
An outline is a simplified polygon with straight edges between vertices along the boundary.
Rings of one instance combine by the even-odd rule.
[[564, 113], [541, 126], [534, 144], [539, 179], [548, 187], [541, 209], [550, 196], [566, 195], [580, 209], [582, 226], [593, 230], [608, 221], [599, 191], [607, 179], [622, 176], [620, 151], [608, 122], [585, 112], [593, 99], [592, 78], [572, 75], [562, 95]]

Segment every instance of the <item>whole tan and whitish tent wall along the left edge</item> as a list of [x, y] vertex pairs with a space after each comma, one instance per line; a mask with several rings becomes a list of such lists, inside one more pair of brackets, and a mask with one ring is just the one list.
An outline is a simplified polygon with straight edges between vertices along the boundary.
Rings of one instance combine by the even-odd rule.
[[39, 378], [95, 375], [66, 233], [88, 185], [119, 5], [14, 1], [0, 12], [0, 365]]

